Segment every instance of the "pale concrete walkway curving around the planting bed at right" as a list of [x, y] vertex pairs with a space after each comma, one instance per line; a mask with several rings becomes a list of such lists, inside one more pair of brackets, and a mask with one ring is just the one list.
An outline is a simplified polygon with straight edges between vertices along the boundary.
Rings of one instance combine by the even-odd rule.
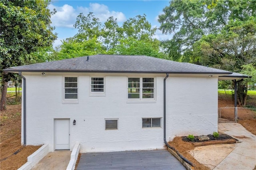
[[239, 123], [220, 123], [218, 131], [238, 139], [239, 143], [198, 146], [190, 154], [211, 170], [253, 170], [256, 136]]

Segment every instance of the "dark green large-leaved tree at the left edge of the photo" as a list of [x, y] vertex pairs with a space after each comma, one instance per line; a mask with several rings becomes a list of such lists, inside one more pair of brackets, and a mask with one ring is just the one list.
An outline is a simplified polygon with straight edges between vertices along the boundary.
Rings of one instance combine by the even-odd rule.
[[28, 54], [48, 47], [56, 39], [50, 26], [49, 3], [42, 0], [0, 2], [1, 111], [6, 105], [7, 82], [14, 77], [3, 69], [24, 65]]

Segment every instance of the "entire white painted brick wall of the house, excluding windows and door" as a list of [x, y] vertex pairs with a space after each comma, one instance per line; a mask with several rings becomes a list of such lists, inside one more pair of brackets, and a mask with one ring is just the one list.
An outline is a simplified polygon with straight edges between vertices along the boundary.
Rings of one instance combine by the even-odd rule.
[[[127, 103], [127, 77], [136, 74], [94, 74], [106, 78], [103, 97], [89, 96], [92, 74], [64, 74], [78, 75], [78, 104], [62, 103], [62, 74], [23, 75], [27, 81], [27, 144], [49, 144], [53, 151], [54, 119], [63, 118], [70, 119], [71, 150], [75, 142], [80, 142], [81, 152], [163, 148], [163, 128], [142, 128], [142, 117], [163, 117], [164, 74], [156, 77], [155, 103]], [[217, 77], [166, 80], [167, 139], [217, 130], [217, 83]], [[118, 118], [118, 130], [104, 130], [104, 119], [111, 118]], [[76, 125], [72, 123], [74, 119]]]

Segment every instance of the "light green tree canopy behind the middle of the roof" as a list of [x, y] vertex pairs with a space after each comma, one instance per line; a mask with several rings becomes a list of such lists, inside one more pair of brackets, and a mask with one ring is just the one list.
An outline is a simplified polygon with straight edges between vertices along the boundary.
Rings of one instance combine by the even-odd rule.
[[77, 16], [74, 27], [78, 29], [78, 34], [62, 42], [59, 59], [96, 53], [164, 57], [160, 41], [152, 38], [156, 28], [152, 28], [146, 15], [129, 18], [119, 26], [112, 16], [102, 24], [92, 12], [86, 16], [81, 13]]

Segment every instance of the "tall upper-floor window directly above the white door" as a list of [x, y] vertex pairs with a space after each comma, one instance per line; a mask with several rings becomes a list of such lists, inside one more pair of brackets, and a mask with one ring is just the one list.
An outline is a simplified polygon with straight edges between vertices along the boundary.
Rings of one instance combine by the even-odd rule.
[[64, 77], [64, 100], [78, 99], [78, 77]]

